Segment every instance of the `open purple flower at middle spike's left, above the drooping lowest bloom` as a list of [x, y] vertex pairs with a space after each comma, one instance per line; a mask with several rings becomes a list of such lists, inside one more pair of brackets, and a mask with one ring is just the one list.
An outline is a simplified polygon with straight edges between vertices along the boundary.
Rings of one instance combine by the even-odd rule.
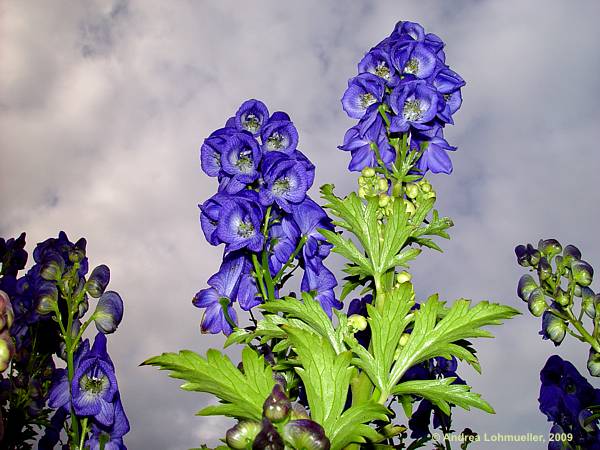
[[262, 208], [257, 202], [241, 196], [230, 197], [222, 203], [217, 237], [226, 244], [228, 252], [245, 247], [258, 252], [264, 243], [262, 219]]

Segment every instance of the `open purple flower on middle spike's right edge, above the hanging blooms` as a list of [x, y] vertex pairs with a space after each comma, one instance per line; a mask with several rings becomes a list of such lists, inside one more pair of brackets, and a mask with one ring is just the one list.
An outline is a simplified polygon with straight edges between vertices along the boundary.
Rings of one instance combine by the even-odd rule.
[[275, 202], [284, 211], [291, 212], [292, 204], [300, 203], [306, 197], [308, 177], [298, 161], [284, 153], [273, 152], [263, 158], [262, 170], [264, 184], [259, 194], [262, 205]]

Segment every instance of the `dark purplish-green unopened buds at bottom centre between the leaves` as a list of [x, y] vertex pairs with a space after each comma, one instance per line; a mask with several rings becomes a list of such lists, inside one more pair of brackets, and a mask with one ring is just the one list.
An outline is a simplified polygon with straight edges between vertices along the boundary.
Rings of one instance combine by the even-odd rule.
[[279, 383], [263, 404], [262, 422], [238, 422], [227, 431], [225, 441], [233, 449], [329, 450], [331, 446], [323, 427], [310, 420], [302, 406], [292, 404]]

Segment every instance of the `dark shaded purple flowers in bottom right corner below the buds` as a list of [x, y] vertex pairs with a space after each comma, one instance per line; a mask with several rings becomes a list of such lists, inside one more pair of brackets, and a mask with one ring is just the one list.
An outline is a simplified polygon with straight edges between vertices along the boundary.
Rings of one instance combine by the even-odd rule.
[[[600, 429], [592, 417], [600, 404], [600, 389], [594, 389], [575, 366], [560, 356], [551, 356], [540, 372], [540, 411], [553, 422], [552, 433], [570, 433], [570, 445], [588, 450], [600, 449]], [[563, 448], [561, 442], [550, 443], [550, 450]]]

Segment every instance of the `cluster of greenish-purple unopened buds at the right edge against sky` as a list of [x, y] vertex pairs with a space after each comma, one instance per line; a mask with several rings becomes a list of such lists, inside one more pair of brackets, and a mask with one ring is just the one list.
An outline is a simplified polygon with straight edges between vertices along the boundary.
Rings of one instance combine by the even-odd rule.
[[[544, 339], [550, 339], [559, 345], [573, 325], [585, 340], [590, 341], [592, 349], [588, 369], [594, 376], [600, 376], [600, 357], [594, 347], [600, 348], [598, 319], [600, 319], [600, 294], [589, 287], [594, 276], [592, 266], [581, 259], [581, 252], [574, 245], [564, 248], [556, 239], [540, 240], [537, 247], [531, 244], [515, 248], [517, 262], [529, 267], [531, 274], [525, 274], [519, 280], [517, 295], [527, 302], [529, 311], [536, 317], [542, 316]], [[576, 305], [577, 303], [577, 305]], [[579, 306], [580, 314], [573, 311]], [[594, 330], [585, 331], [581, 322], [589, 317]], [[578, 317], [578, 318], [576, 318]], [[583, 331], [582, 331], [583, 330]], [[587, 334], [587, 336], [586, 336]], [[592, 364], [593, 362], [593, 364]], [[591, 367], [590, 367], [591, 365]]]

